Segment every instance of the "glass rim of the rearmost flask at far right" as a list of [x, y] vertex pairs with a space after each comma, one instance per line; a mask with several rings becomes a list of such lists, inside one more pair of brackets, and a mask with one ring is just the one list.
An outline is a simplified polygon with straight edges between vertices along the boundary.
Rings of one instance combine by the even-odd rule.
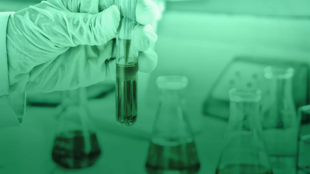
[[266, 79], [290, 79], [294, 75], [294, 69], [285, 66], [268, 66], [264, 68]]

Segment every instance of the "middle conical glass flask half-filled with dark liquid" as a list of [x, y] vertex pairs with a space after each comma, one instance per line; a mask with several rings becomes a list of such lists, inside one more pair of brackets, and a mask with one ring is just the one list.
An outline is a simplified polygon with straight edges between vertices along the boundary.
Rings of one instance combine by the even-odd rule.
[[162, 91], [162, 98], [154, 122], [146, 170], [149, 174], [195, 174], [200, 169], [200, 162], [179, 96], [188, 79], [160, 76], [156, 83]]

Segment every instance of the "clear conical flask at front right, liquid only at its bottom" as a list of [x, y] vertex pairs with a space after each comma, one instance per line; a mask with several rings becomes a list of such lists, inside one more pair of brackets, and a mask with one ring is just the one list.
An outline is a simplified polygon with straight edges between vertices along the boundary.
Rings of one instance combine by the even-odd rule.
[[229, 91], [230, 115], [216, 174], [272, 174], [259, 120], [258, 89]]

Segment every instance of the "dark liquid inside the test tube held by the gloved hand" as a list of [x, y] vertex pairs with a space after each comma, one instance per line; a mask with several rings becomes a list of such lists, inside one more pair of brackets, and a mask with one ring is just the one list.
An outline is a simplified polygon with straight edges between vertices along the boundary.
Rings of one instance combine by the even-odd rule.
[[138, 65], [116, 66], [116, 121], [131, 126], [137, 120]]

